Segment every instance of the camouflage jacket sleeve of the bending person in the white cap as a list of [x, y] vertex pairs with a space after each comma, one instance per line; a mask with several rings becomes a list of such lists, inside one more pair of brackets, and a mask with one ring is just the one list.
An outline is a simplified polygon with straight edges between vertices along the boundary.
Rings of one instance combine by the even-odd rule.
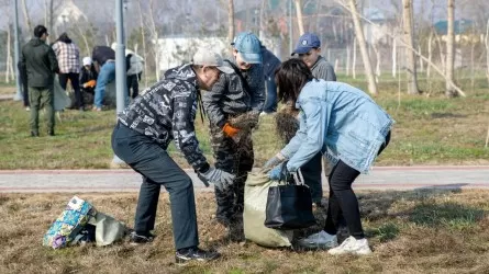
[[[177, 89], [178, 90], [178, 89]], [[173, 106], [173, 132], [175, 146], [179, 149], [187, 162], [192, 165], [195, 170], [201, 170], [203, 167], [209, 167], [209, 163], [199, 148], [199, 140], [197, 139], [193, 119], [197, 113], [196, 93], [192, 91], [174, 91], [178, 95], [174, 95]]]

